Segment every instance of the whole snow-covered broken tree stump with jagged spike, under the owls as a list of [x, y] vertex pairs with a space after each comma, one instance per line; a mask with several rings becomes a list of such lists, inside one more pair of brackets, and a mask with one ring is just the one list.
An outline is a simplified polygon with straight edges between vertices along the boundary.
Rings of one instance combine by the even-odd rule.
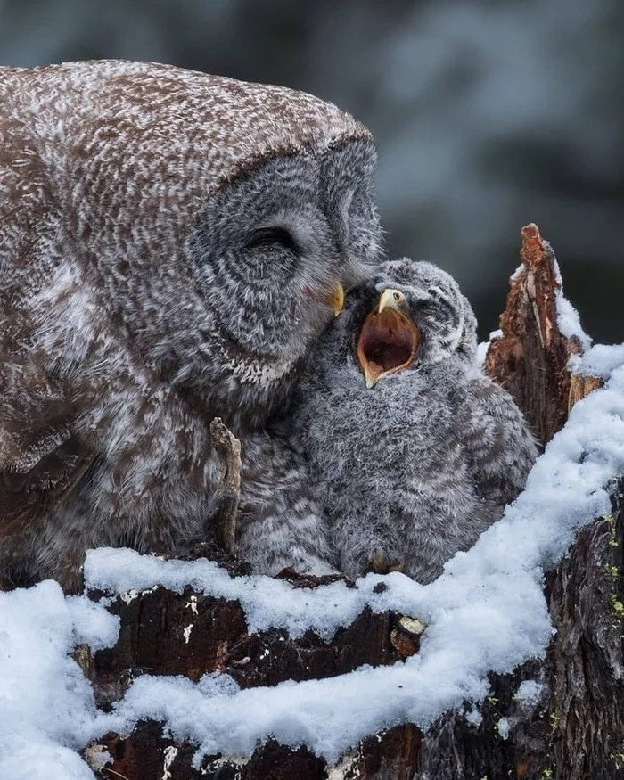
[[485, 365], [546, 449], [472, 550], [424, 587], [96, 550], [86, 595], [0, 594], [0, 778], [622, 776], [624, 346], [536, 226], [521, 259]]

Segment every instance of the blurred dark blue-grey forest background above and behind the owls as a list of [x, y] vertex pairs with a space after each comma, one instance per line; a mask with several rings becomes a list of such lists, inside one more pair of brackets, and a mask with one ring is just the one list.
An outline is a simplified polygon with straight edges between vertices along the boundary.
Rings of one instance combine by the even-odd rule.
[[0, 0], [0, 63], [123, 57], [292, 86], [380, 151], [390, 255], [497, 327], [520, 228], [596, 341], [624, 341], [622, 0]]

